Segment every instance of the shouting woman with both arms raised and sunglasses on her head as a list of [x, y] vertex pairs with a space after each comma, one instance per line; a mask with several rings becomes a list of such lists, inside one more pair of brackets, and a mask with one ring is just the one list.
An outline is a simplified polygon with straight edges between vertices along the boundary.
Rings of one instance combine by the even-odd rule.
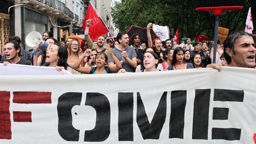
[[92, 51], [91, 49], [87, 49], [85, 50], [84, 54], [78, 59], [78, 61], [74, 63], [74, 69], [84, 74], [109, 74], [109, 73], [112, 73], [113, 70], [115, 70], [116, 68], [120, 69], [122, 65], [119, 59], [117, 59], [116, 56], [111, 51], [110, 45], [107, 44], [105, 48], [108, 49], [108, 51], [110, 52], [111, 57], [115, 61], [115, 65], [109, 67], [108, 56], [104, 52], [98, 52], [96, 54], [96, 59], [95, 59], [96, 67], [87, 67], [87, 66], [79, 67], [83, 59], [85, 57], [88, 57]]

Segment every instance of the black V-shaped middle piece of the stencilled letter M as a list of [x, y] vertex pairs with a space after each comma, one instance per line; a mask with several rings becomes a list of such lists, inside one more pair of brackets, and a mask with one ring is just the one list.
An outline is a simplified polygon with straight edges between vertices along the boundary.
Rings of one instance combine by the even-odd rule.
[[137, 92], [137, 124], [140, 128], [143, 139], [159, 139], [160, 132], [166, 118], [167, 111], [167, 92], [163, 92], [156, 112], [151, 123], [148, 122], [148, 116], [145, 112], [144, 104], [141, 100], [140, 93]]

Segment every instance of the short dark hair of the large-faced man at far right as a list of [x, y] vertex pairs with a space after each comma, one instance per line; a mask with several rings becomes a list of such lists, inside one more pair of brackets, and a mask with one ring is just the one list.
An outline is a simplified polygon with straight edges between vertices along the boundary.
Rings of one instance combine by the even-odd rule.
[[246, 33], [243, 31], [232, 33], [226, 37], [225, 41], [223, 41], [224, 55], [225, 55], [226, 62], [228, 64], [231, 63], [231, 57], [226, 53], [226, 48], [230, 48], [230, 50], [232, 50], [232, 52], [234, 52], [234, 45], [236, 44], [237, 40], [243, 36], [252, 37], [253, 41], [255, 41], [255, 38], [252, 36], [252, 34]]

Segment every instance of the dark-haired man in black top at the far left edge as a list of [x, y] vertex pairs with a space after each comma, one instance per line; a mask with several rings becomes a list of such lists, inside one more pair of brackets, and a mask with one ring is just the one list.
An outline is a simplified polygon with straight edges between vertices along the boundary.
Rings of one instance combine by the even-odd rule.
[[4, 44], [4, 54], [6, 56], [6, 60], [0, 62], [4, 63], [4, 65], [7, 65], [7, 63], [31, 65], [30, 60], [21, 59], [19, 57], [20, 45], [15, 41], [8, 41]]

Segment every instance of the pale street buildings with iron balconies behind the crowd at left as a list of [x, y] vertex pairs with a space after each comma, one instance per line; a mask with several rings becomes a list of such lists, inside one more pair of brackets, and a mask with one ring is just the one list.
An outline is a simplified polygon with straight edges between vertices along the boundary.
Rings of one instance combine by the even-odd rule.
[[22, 48], [30, 50], [25, 38], [32, 31], [41, 34], [50, 31], [58, 41], [73, 33], [83, 34], [81, 26], [89, 3], [94, 5], [111, 34], [116, 35], [110, 13], [112, 0], [1, 0], [0, 54], [10, 36], [21, 37]]

